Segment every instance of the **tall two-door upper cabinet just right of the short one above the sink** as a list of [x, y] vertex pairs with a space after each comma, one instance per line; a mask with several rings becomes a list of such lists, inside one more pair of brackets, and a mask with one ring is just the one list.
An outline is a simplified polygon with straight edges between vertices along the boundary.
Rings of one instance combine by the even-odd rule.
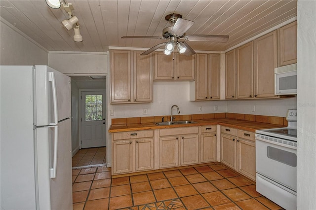
[[196, 81], [190, 83], [190, 101], [220, 99], [220, 54], [197, 54]]

